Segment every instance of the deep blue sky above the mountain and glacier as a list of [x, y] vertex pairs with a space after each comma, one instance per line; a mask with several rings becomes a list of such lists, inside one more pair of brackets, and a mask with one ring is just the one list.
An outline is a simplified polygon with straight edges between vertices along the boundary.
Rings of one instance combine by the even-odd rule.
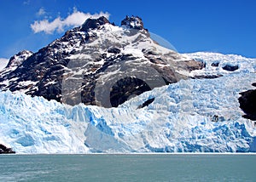
[[256, 58], [254, 0], [1, 0], [0, 58], [23, 49], [37, 52], [84, 21], [80, 19], [101, 12], [116, 25], [126, 14], [140, 16], [145, 28], [164, 37], [179, 53], [210, 51]]

